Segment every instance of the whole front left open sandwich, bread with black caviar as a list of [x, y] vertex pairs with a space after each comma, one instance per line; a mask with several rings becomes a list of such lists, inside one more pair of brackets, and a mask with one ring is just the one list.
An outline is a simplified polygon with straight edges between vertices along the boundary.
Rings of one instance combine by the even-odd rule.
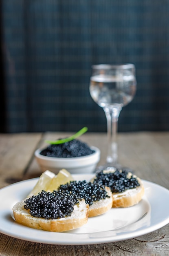
[[88, 221], [88, 204], [73, 195], [42, 191], [13, 207], [16, 222], [34, 229], [62, 232]]

